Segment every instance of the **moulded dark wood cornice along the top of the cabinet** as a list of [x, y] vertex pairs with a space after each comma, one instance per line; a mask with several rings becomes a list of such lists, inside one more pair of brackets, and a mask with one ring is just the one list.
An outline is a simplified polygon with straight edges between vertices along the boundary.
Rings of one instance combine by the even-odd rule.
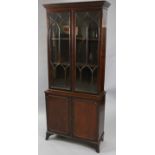
[[72, 3], [52, 3], [52, 4], [44, 4], [46, 9], [50, 8], [78, 8], [78, 7], [92, 7], [92, 8], [108, 8], [110, 3], [107, 1], [87, 1], [87, 2], [72, 2]]

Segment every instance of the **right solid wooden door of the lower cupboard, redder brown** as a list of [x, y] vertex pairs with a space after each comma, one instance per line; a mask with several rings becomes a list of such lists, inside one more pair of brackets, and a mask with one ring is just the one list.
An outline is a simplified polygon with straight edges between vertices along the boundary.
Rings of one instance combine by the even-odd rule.
[[97, 139], [97, 105], [90, 100], [73, 100], [73, 135], [75, 137]]

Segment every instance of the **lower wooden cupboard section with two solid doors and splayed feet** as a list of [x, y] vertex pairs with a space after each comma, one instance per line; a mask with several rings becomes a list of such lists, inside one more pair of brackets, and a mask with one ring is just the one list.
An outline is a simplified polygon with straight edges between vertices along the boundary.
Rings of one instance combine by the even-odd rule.
[[49, 91], [45, 95], [46, 139], [54, 133], [60, 134], [91, 143], [98, 152], [99, 143], [104, 136], [104, 100], [90, 99], [91, 96], [83, 97], [79, 94], [61, 96]]

